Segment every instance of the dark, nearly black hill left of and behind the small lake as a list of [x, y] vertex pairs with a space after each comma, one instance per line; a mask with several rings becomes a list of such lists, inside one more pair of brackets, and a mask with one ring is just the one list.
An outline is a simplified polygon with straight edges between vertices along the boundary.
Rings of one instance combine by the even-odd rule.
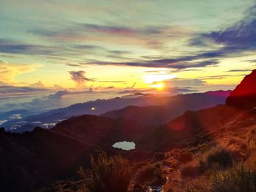
[[83, 115], [50, 130], [15, 134], [0, 131], [0, 191], [32, 191], [59, 178], [72, 176], [89, 164], [95, 150], [114, 151], [112, 145], [137, 140], [146, 131], [132, 120]]

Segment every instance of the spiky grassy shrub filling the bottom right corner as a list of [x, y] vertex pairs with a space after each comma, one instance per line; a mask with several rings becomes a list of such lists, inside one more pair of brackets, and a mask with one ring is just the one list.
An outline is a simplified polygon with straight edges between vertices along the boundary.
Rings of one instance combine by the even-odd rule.
[[246, 166], [234, 166], [211, 178], [211, 192], [254, 192], [256, 172]]

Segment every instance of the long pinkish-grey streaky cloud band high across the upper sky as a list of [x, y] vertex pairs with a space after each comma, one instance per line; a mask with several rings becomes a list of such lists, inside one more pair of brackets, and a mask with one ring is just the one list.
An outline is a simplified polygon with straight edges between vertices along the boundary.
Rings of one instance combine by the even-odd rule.
[[[111, 42], [143, 47], [163, 47], [166, 42], [164, 39], [173, 40], [189, 35], [189, 31], [184, 26], [131, 27], [75, 22], [69, 23], [69, 27], [59, 28], [58, 31], [34, 29], [28, 32], [58, 42]], [[91, 50], [91, 47], [89, 48]]]

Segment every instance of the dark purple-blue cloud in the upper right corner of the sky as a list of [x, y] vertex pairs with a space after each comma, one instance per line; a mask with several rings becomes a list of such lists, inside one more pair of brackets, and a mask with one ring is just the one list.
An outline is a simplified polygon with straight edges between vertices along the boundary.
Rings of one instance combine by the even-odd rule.
[[250, 7], [246, 17], [228, 28], [199, 34], [192, 38], [190, 45], [202, 47], [220, 45], [208, 52], [208, 57], [238, 56], [238, 53], [256, 50], [256, 5]]

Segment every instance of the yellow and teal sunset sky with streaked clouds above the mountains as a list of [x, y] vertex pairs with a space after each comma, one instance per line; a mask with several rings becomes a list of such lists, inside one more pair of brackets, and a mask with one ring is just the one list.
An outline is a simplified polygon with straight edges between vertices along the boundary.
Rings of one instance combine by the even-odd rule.
[[227, 90], [255, 69], [255, 0], [0, 4], [2, 110]]

